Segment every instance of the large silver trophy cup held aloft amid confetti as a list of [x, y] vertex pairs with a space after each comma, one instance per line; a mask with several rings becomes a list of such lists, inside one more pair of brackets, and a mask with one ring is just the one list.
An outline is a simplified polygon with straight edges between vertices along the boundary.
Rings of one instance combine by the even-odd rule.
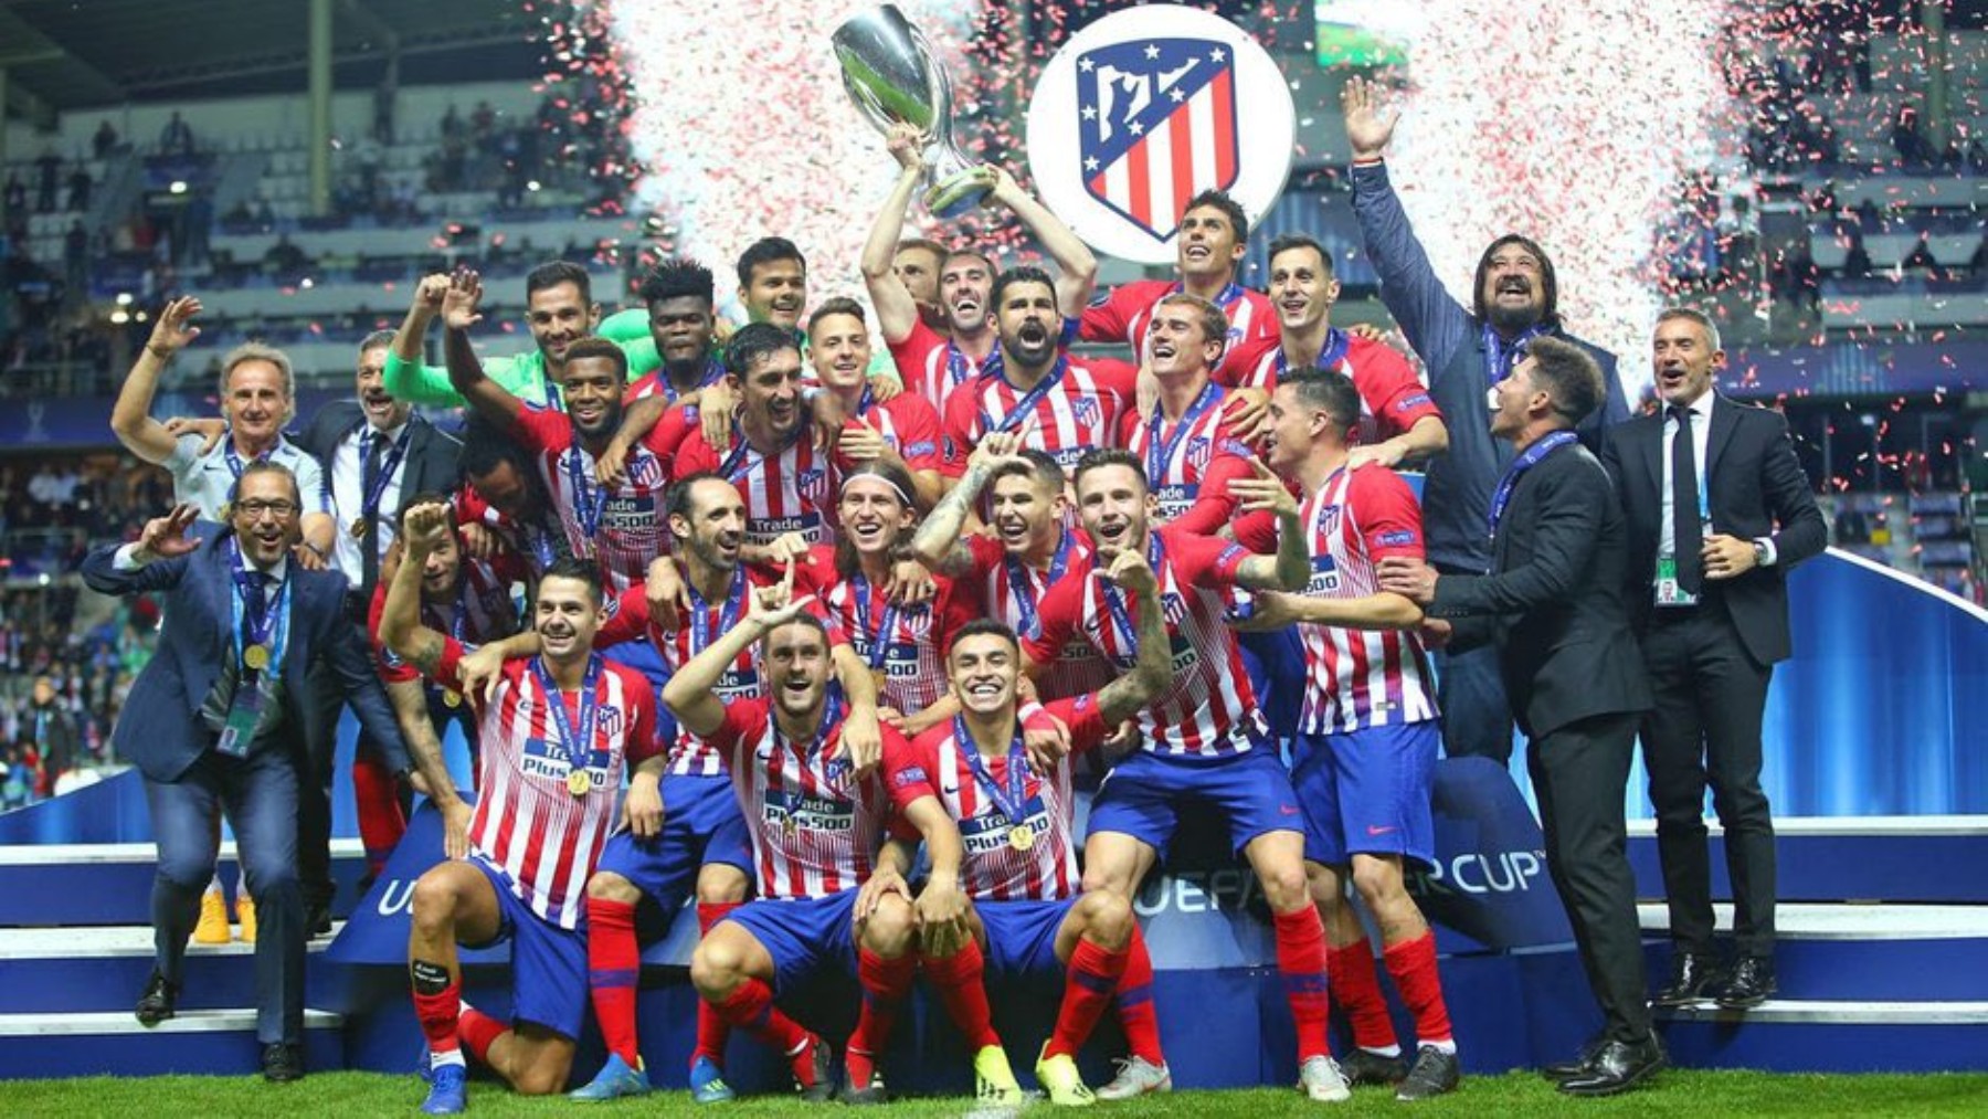
[[928, 211], [960, 217], [986, 199], [992, 185], [952, 143], [952, 78], [897, 4], [851, 16], [835, 28], [835, 58], [843, 64], [849, 99], [877, 131], [907, 123], [926, 137]]

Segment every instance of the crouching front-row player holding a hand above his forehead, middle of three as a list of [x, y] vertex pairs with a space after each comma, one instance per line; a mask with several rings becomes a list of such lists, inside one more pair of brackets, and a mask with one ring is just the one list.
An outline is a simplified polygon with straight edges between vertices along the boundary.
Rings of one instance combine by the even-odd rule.
[[[879, 1095], [873, 1055], [911, 990], [916, 912], [911, 849], [885, 843], [891, 801], [879, 757], [851, 757], [845, 721], [877, 731], [873, 704], [829, 686], [829, 634], [791, 580], [747, 594], [747, 616], [690, 658], [662, 690], [684, 731], [732, 773], [751, 833], [757, 900], [720, 920], [690, 960], [690, 982], [734, 1028], [785, 1053], [807, 1099], [829, 1099], [829, 1049], [773, 998], [825, 966], [855, 972], [863, 1010], [845, 1063], [855, 1099]], [[761, 642], [765, 698], [718, 698], [720, 678]], [[881, 727], [885, 749], [903, 735]], [[877, 741], [873, 735], [861, 735]]]

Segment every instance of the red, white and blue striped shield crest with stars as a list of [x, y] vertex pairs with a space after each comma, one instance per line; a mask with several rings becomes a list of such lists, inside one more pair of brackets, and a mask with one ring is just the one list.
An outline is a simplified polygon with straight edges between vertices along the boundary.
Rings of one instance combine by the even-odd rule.
[[1159, 240], [1201, 189], [1237, 181], [1235, 60], [1215, 40], [1155, 38], [1077, 56], [1083, 189]]

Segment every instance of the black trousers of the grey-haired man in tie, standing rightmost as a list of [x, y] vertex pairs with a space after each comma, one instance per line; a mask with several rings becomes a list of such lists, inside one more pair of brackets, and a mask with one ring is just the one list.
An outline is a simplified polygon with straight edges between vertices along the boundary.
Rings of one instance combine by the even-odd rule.
[[1710, 783], [1726, 829], [1734, 942], [1743, 956], [1771, 956], [1773, 813], [1759, 787], [1759, 727], [1773, 666], [1747, 656], [1718, 602], [1656, 610], [1642, 660], [1656, 692], [1656, 708], [1642, 719], [1642, 763], [1656, 807], [1670, 938], [1680, 950], [1712, 950]]

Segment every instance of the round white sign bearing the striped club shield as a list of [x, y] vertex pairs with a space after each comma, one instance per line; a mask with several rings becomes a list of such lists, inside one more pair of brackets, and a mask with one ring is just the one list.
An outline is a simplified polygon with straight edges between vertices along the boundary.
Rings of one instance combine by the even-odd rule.
[[1276, 203], [1294, 117], [1284, 74], [1248, 32], [1147, 4], [1085, 26], [1044, 68], [1028, 167], [1091, 248], [1167, 264], [1197, 193], [1227, 191], [1250, 217]]

